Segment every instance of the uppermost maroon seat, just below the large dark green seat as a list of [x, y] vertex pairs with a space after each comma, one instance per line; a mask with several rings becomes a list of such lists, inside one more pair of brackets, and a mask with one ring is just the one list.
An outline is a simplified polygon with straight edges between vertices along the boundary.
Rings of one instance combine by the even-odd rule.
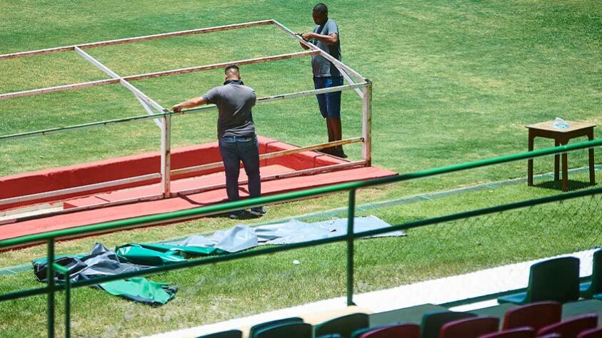
[[503, 317], [503, 330], [517, 327], [541, 329], [562, 319], [562, 304], [558, 302], [535, 302], [509, 309]]

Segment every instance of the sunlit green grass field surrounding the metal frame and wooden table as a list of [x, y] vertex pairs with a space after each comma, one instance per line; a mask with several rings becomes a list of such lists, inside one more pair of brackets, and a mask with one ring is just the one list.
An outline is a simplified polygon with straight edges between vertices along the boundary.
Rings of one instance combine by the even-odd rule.
[[[0, 53], [276, 19], [294, 31], [313, 27], [313, 1], [0, 1]], [[373, 164], [399, 173], [526, 150], [527, 124], [556, 116], [602, 125], [602, 9], [597, 1], [329, 1], [341, 31], [343, 62], [371, 79]], [[275, 27], [224, 31], [92, 48], [121, 76], [301, 51]], [[258, 96], [311, 89], [308, 58], [241, 68]], [[106, 78], [75, 53], [0, 61], [0, 93]], [[134, 86], [169, 107], [223, 81], [222, 71], [144, 81]], [[0, 101], [0, 135], [143, 115], [114, 85]], [[261, 135], [298, 145], [326, 140], [315, 98], [256, 106]], [[216, 113], [173, 119], [174, 147], [215, 140]], [[596, 138], [602, 137], [596, 130]], [[343, 94], [343, 137], [361, 132], [361, 101]], [[536, 148], [551, 146], [538, 140]], [[159, 150], [151, 121], [1, 145], [0, 175]], [[357, 145], [348, 147], [358, 159]], [[553, 160], [536, 160], [536, 173]], [[586, 153], [569, 165], [586, 165]], [[601, 154], [596, 153], [596, 163]], [[401, 198], [526, 175], [526, 163], [469, 170], [362, 190], [358, 203]], [[602, 175], [597, 173], [597, 181]], [[586, 175], [571, 176], [586, 180]], [[573, 187], [576, 187], [573, 183]], [[548, 189], [549, 188], [549, 189]], [[557, 185], [509, 185], [438, 200], [371, 210], [391, 224], [559, 193]], [[356, 245], [356, 290], [366, 292], [509, 262], [601, 245], [599, 198], [479, 217], [454, 226], [411, 230], [408, 237]], [[276, 205], [263, 220], [343, 207], [345, 195]], [[344, 215], [342, 215], [344, 216]], [[210, 217], [57, 245], [81, 253], [231, 227]], [[457, 226], [456, 226], [457, 225]], [[538, 245], [533, 245], [537, 243]], [[179, 285], [164, 307], [150, 308], [91, 289], [74, 292], [75, 337], [137, 337], [338, 297], [345, 291], [345, 247], [327, 245], [191, 270], [153, 280]], [[0, 255], [0, 267], [29, 262], [45, 247]], [[292, 265], [300, 260], [301, 265]], [[316, 278], [317, 277], [317, 278]], [[0, 277], [0, 292], [39, 287], [31, 272]], [[59, 304], [62, 304], [61, 296]], [[45, 335], [44, 297], [0, 303], [4, 337]], [[60, 306], [60, 305], [59, 305]], [[62, 311], [62, 310], [61, 310]], [[57, 323], [62, 312], [59, 311]], [[60, 332], [60, 328], [59, 328]]]

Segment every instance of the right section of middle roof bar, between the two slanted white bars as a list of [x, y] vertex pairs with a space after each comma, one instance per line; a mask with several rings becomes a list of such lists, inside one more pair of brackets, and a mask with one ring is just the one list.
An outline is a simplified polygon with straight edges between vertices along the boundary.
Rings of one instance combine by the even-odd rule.
[[179, 74], [185, 74], [185, 73], [193, 73], [196, 71], [211, 71], [212, 69], [226, 68], [227, 66], [234, 66], [234, 65], [244, 66], [244, 65], [254, 64], [254, 63], [279, 61], [279, 60], [286, 60], [289, 58], [299, 58], [301, 56], [310, 56], [310, 55], [317, 55], [317, 54], [319, 54], [318, 51], [301, 51], [301, 52], [281, 54], [281, 55], [276, 55], [276, 56], [266, 56], [266, 57], [262, 57], [262, 58], [249, 58], [246, 60], [214, 63], [214, 64], [206, 65], [206, 66], [179, 68], [179, 69], [173, 69], [171, 71], [157, 71], [154, 73], [145, 73], [145, 74], [124, 76], [124, 79], [126, 81], [142, 80], [145, 78], [157, 78], [157, 77], [161, 77], [161, 76], [179, 75]]

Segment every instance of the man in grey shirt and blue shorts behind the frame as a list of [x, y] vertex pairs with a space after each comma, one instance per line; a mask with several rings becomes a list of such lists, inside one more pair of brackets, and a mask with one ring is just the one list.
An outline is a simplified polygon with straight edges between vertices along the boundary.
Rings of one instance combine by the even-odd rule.
[[[313, 6], [313, 27], [311, 33], [303, 34], [303, 40], [316, 45], [333, 58], [341, 61], [341, 41], [338, 39], [338, 26], [333, 19], [328, 19], [328, 7], [325, 4]], [[301, 43], [303, 49], [309, 49]], [[311, 68], [313, 69], [313, 86], [316, 89], [330, 88], [343, 85], [343, 77], [338, 69], [321, 55], [311, 56]], [[326, 118], [326, 129], [328, 130], [328, 142], [341, 140], [343, 130], [341, 128], [341, 92], [325, 93], [316, 95], [318, 106], [323, 118]], [[341, 158], [347, 156], [341, 145], [334, 148], [322, 150]]]

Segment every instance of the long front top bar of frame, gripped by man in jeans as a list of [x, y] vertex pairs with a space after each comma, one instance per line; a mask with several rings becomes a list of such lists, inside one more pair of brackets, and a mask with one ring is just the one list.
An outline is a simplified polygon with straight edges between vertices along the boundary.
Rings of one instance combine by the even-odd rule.
[[[111, 81], [115, 81], [114, 79], [112, 79]], [[276, 95], [276, 96], [267, 96], [265, 98], [259, 98], [257, 100], [258, 103], [266, 103], [266, 102], [271, 102], [271, 101], [278, 101], [278, 100], [284, 100], [287, 98], [297, 98], [297, 97], [301, 97], [301, 96], [311, 96], [314, 94], [323, 94], [323, 93], [331, 93], [333, 91], [348, 91], [351, 90], [353, 88], [360, 88], [362, 86], [366, 86], [366, 83], [356, 83], [353, 85], [345, 85], [345, 86], [336, 86], [336, 87], [331, 87], [331, 88], [322, 88], [322, 89], [314, 89], [311, 91], [300, 91], [298, 93], [289, 93], [289, 94], [282, 94], [282, 95]], [[17, 138], [29, 138], [29, 137], [33, 137], [33, 136], [39, 136], [39, 135], [50, 135], [50, 134], [56, 134], [56, 133], [66, 133], [69, 131], [74, 131], [74, 130], [81, 130], [81, 129], [86, 129], [86, 128], [95, 128], [95, 127], [102, 127], [102, 126], [108, 126], [109, 124], [116, 124], [116, 123], [128, 123], [128, 122], [132, 122], [132, 121], [143, 121], [143, 120], [149, 120], [151, 118], [161, 118], [163, 116], [166, 115], [184, 115], [184, 114], [190, 114], [190, 113], [199, 113], [202, 111], [211, 111], [216, 109], [215, 105], [209, 105], [209, 106], [202, 106], [199, 108], [194, 108], [194, 109], [188, 109], [185, 111], [180, 111], [178, 113], [173, 112], [173, 111], [164, 111], [162, 113], [156, 113], [154, 116], [148, 116], [148, 115], [143, 115], [143, 116], [132, 116], [129, 118], [117, 118], [114, 120], [107, 120], [107, 121], [99, 121], [99, 122], [92, 122], [92, 123], [84, 123], [84, 124], [80, 124], [80, 125], [76, 125], [76, 126], [66, 126], [66, 127], [60, 127], [60, 128], [50, 128], [50, 129], [45, 129], [45, 130], [35, 130], [35, 131], [29, 131], [26, 133], [17, 133], [17, 134], [11, 134], [11, 135], [2, 135], [0, 136], [0, 141], [3, 140], [14, 140]]]

